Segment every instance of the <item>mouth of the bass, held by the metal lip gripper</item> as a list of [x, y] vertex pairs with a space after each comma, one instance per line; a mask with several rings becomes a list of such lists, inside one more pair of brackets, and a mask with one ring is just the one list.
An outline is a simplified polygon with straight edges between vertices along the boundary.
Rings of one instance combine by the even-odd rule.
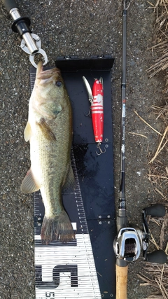
[[49, 81], [52, 81], [53, 76], [60, 76], [60, 70], [57, 69], [57, 67], [54, 67], [52, 69], [45, 69], [43, 71], [43, 62], [38, 62], [37, 69], [36, 69], [36, 79], [42, 80], [43, 83], [48, 83]]

